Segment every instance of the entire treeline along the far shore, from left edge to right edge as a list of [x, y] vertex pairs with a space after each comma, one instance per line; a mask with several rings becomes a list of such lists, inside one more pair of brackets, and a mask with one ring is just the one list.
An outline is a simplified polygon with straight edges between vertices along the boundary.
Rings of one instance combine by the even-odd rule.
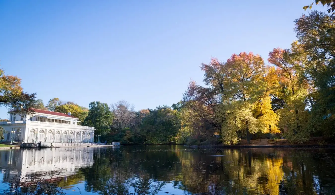
[[[182, 100], [134, 111], [126, 101], [89, 108], [58, 98], [44, 106], [1, 70], [1, 105], [48, 109], [78, 117], [102, 140], [123, 144], [238, 144], [255, 138], [303, 143], [335, 135], [335, 15], [312, 11], [295, 20], [297, 40], [274, 48], [268, 62], [252, 52], [201, 65], [205, 86], [191, 81]], [[18, 101], [19, 100], [19, 101]], [[33, 101], [32, 101], [33, 100]], [[22, 109], [23, 108], [23, 109]]]

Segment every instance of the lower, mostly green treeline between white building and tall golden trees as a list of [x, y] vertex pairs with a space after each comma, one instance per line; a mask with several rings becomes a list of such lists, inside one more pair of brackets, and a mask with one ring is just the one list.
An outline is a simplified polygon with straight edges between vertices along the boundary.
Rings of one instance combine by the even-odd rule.
[[46, 106], [42, 100], [36, 100], [31, 108], [70, 112], [82, 121], [82, 125], [95, 127], [94, 134], [101, 135], [101, 140], [122, 144], [175, 143], [176, 135], [181, 129], [178, 111], [168, 106], [135, 112], [134, 106], [124, 100], [110, 106], [91, 102], [85, 108], [74, 102], [53, 98]]

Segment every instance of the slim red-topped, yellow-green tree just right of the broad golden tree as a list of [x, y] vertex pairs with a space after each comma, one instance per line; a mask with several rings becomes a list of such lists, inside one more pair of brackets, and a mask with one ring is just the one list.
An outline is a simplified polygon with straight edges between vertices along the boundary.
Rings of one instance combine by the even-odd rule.
[[285, 102], [283, 109], [278, 111], [279, 128], [292, 143], [305, 142], [310, 137], [306, 110], [309, 84], [297, 69], [299, 62], [289, 50], [280, 48], [269, 53], [268, 61], [277, 67], [282, 89], [278, 96]]

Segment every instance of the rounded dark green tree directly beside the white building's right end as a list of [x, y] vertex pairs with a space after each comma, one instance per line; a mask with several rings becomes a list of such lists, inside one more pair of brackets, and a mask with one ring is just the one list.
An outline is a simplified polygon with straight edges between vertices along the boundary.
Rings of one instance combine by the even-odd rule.
[[83, 125], [95, 128], [95, 135], [107, 135], [111, 132], [113, 113], [106, 103], [91, 102]]

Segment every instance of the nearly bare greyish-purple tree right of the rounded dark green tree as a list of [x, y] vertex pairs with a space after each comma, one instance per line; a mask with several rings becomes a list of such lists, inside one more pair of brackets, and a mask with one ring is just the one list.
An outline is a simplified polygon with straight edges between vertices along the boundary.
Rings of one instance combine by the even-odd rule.
[[131, 121], [136, 117], [134, 106], [125, 100], [112, 104], [111, 110], [114, 115], [114, 127], [119, 131], [128, 128]]

